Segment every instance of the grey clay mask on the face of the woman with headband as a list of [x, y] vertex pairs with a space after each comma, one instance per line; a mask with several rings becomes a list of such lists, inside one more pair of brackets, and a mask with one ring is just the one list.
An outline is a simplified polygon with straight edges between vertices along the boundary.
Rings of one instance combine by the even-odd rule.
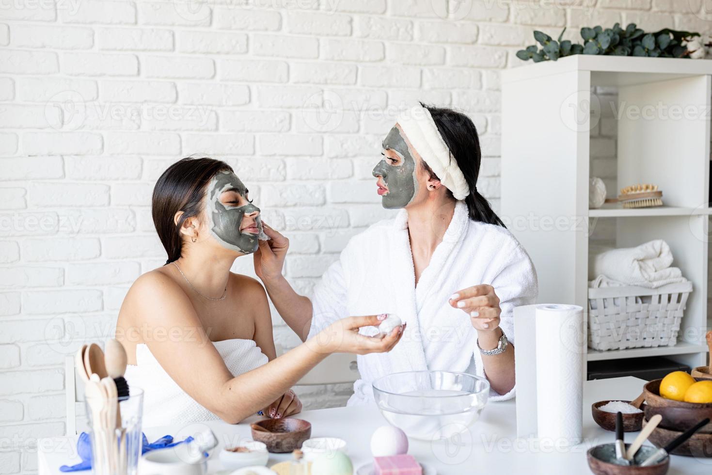
[[386, 209], [404, 208], [413, 201], [418, 191], [415, 176], [415, 160], [398, 127], [393, 127], [383, 140], [383, 148], [396, 152], [401, 158], [399, 165], [391, 165], [384, 157], [373, 169], [373, 176], [383, 177], [388, 191], [382, 194], [381, 204]]

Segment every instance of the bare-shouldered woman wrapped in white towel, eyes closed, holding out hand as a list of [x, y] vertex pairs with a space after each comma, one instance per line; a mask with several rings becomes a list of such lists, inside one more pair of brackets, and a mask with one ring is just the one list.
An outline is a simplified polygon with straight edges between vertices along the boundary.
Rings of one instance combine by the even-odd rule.
[[253, 278], [230, 271], [252, 254], [260, 209], [225, 162], [185, 158], [153, 190], [152, 215], [168, 259], [133, 283], [119, 312], [126, 379], [144, 390], [144, 427], [211, 419], [240, 422], [259, 412], [300, 412], [290, 387], [330, 353], [388, 351], [396, 328], [379, 340], [360, 335], [376, 315], [345, 318], [277, 357], [267, 296]]

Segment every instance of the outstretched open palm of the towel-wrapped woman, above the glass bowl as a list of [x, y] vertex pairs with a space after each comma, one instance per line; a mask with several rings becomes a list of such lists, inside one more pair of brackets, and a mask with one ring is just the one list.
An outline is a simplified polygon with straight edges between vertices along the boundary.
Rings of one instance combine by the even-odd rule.
[[337, 320], [306, 343], [318, 353], [385, 353], [399, 342], [405, 325], [394, 328], [386, 336], [365, 336], [358, 333], [359, 328], [377, 326], [385, 315], [370, 315], [367, 317], [347, 317]]

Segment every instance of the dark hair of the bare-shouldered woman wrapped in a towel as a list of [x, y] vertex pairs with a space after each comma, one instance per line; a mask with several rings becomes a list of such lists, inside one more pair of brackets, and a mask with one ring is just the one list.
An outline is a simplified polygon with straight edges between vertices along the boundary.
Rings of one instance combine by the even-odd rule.
[[[181, 256], [183, 221], [203, 210], [205, 188], [217, 172], [233, 171], [230, 165], [211, 158], [184, 158], [168, 167], [153, 187], [151, 214], [156, 232], [168, 254], [167, 264]], [[173, 222], [177, 212], [183, 214]]]

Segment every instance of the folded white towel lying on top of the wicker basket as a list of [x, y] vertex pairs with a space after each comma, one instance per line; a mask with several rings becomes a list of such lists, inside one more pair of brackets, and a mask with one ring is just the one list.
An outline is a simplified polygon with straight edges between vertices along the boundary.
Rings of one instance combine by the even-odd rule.
[[[611, 281], [617, 281], [627, 286], [647, 288], [686, 281], [679, 268], [671, 267], [672, 261], [670, 246], [662, 239], [630, 248], [602, 252], [592, 249], [589, 254], [589, 278], [599, 280], [599, 276], [603, 276], [609, 285]], [[598, 286], [602, 286], [601, 283]]]

